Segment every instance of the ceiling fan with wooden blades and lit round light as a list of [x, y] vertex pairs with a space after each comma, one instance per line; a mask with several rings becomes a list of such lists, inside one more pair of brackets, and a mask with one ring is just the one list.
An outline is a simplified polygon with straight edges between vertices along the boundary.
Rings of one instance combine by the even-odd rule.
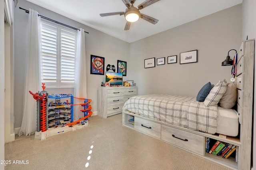
[[[114, 15], [124, 15], [124, 18], [126, 19], [126, 25], [124, 27], [124, 30], [129, 30], [131, 22], [138, 21], [139, 18], [142, 18], [143, 20], [146, 20], [150, 23], [156, 24], [158, 22], [157, 19], [152, 18], [150, 16], [147, 16], [145, 14], [141, 14], [139, 10], [146, 8], [147, 6], [150, 6], [151, 4], [154, 4], [155, 2], [158, 2], [160, 0], [146, 0], [142, 2], [140, 5], [138, 5], [138, 8], [134, 7], [133, 4], [136, 0], [122, 0], [127, 7], [125, 12], [110, 12], [110, 13], [104, 13], [100, 14], [100, 16], [114, 16]], [[130, 5], [130, 3], [131, 5]]]

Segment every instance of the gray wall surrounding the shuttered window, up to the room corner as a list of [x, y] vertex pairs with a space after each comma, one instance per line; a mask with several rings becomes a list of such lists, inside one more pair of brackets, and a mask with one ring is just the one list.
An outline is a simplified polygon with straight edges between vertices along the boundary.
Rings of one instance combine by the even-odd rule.
[[[72, 27], [83, 28], [89, 34], [85, 33], [86, 40], [86, 57], [87, 57], [87, 80], [88, 80], [88, 96], [86, 98], [92, 99], [92, 111], [98, 111], [98, 87], [104, 81], [105, 76], [90, 74], [90, 55], [97, 55], [105, 57], [105, 71], [107, 64], [117, 64], [117, 60], [129, 62], [129, 43], [120, 39], [114, 38], [110, 35], [92, 29], [86, 25], [82, 25], [76, 21], [70, 20], [60, 16], [54, 12], [41, 8], [25, 0], [19, 0], [17, 8], [14, 9], [14, 127], [18, 128], [22, 123], [22, 108], [23, 108], [23, 89], [25, 80], [25, 64], [26, 64], [26, 50], [27, 45], [27, 28], [28, 28], [28, 14], [18, 7], [29, 10], [29, 8], [38, 11], [42, 16], [51, 18], [53, 20], [65, 23]], [[65, 27], [67, 28], [67, 27]], [[73, 29], [72, 29], [73, 30]], [[74, 30], [73, 30], [74, 31]], [[129, 65], [128, 65], [129, 67]], [[128, 68], [129, 69], [129, 68]], [[126, 78], [126, 77], [125, 77]], [[127, 76], [129, 78], [129, 75]], [[47, 86], [47, 84], [46, 84]], [[38, 89], [41, 91], [42, 89]], [[74, 89], [50, 89], [46, 87], [46, 91], [51, 94], [57, 93], [72, 93]]]

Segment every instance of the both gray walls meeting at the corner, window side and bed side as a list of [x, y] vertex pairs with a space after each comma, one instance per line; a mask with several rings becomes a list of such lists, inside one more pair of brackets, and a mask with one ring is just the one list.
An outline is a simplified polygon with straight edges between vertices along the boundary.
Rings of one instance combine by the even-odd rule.
[[[20, 0], [19, 6], [27, 10], [32, 8], [43, 16], [76, 28], [82, 27], [89, 32], [85, 35], [87, 87], [88, 98], [92, 99], [94, 112], [98, 111], [98, 87], [100, 82], [104, 81], [104, 76], [90, 74], [91, 54], [105, 57], [105, 65], [116, 65], [117, 60], [127, 61], [127, 76], [124, 80], [134, 80], [138, 86], [138, 94], [166, 93], [196, 96], [208, 81], [216, 84], [218, 80], [224, 78], [230, 80], [231, 66], [221, 66], [221, 62], [226, 58], [228, 50], [238, 49], [241, 43], [241, 5], [130, 44], [25, 0]], [[14, 127], [18, 128], [22, 122], [28, 14], [18, 7], [14, 10]], [[180, 52], [195, 49], [198, 50], [197, 63], [179, 64]], [[170, 55], [178, 55], [178, 63], [144, 68], [144, 59], [166, 57], [167, 60]], [[231, 52], [230, 56], [234, 56], [234, 52]], [[73, 93], [74, 89], [46, 88], [46, 91]]]

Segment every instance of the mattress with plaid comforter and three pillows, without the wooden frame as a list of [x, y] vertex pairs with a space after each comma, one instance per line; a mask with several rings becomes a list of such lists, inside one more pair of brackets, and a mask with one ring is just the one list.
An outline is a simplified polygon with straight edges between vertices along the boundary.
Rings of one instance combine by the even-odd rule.
[[[236, 94], [236, 86], [225, 80], [216, 86], [208, 82], [197, 97], [167, 94], [134, 96], [126, 101], [123, 110], [195, 131], [237, 136], [238, 113], [232, 109], [236, 104]], [[224, 104], [225, 97], [228, 104]], [[218, 105], [219, 102], [222, 104]]]

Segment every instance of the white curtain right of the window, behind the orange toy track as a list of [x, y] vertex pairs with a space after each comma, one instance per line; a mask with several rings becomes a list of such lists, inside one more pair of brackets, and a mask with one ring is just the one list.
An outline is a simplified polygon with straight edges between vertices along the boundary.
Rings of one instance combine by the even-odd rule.
[[[84, 29], [78, 30], [76, 46], [76, 64], [75, 64], [75, 87], [74, 97], [87, 98], [86, 85], [86, 51]], [[74, 104], [82, 104], [84, 100], [74, 99]], [[74, 106], [74, 120], [84, 117], [81, 106]]]

